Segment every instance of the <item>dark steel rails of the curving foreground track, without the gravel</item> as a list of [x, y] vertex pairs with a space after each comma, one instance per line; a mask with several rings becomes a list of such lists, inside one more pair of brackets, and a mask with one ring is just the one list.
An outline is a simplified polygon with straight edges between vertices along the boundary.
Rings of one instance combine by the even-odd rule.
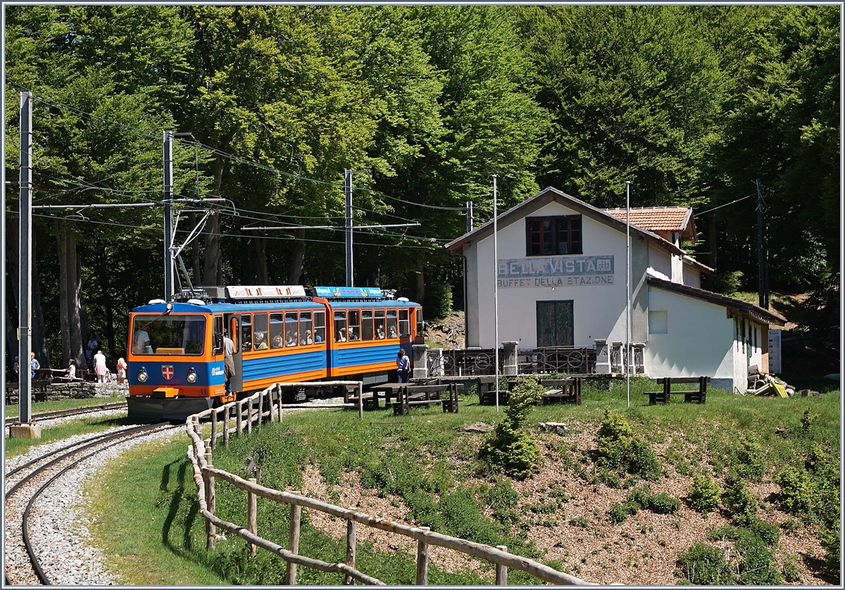
[[[25, 478], [22, 478], [18, 483], [15, 483], [15, 485], [11, 489], [9, 489], [8, 492], [5, 494], [6, 499], [8, 499], [12, 494], [17, 492], [25, 483], [31, 481], [33, 478], [37, 477], [38, 475], [40, 475], [41, 473], [46, 471], [46, 469], [48, 469], [49, 467], [52, 467], [57, 462], [61, 462], [65, 459], [67, 459], [70, 456], [74, 456], [74, 455], [78, 454], [80, 451], [86, 451], [86, 450], [90, 449], [91, 447], [100, 446], [100, 448], [97, 448], [95, 451], [87, 453], [85, 456], [79, 457], [78, 459], [74, 460], [73, 462], [70, 462], [66, 467], [63, 467], [58, 473], [55, 473], [52, 476], [52, 478], [48, 479], [46, 481], [46, 483], [41, 485], [41, 487], [35, 492], [35, 494], [32, 494], [30, 500], [27, 502], [24, 514], [23, 514], [22, 519], [21, 519], [22, 537], [23, 537], [23, 540], [24, 540], [24, 547], [26, 549], [26, 553], [30, 557], [30, 563], [32, 564], [32, 569], [35, 572], [35, 576], [38, 577], [39, 581], [41, 581], [42, 584], [44, 584], [45, 586], [51, 586], [52, 582], [50, 582], [50, 579], [46, 576], [46, 573], [44, 572], [43, 568], [41, 567], [41, 562], [38, 560], [38, 557], [35, 555], [35, 549], [32, 547], [32, 544], [30, 543], [30, 533], [29, 533], [28, 521], [29, 521], [30, 511], [32, 510], [32, 506], [35, 505], [35, 500], [37, 500], [38, 497], [44, 492], [44, 490], [46, 490], [54, 481], [56, 481], [57, 478], [60, 478], [61, 476], [63, 476], [64, 473], [67, 473], [69, 470], [73, 469], [74, 467], [77, 467], [80, 462], [83, 462], [86, 459], [89, 459], [91, 456], [95, 456], [97, 453], [105, 451], [106, 449], [109, 449], [112, 446], [119, 445], [119, 444], [125, 442], [125, 440], [128, 439], [128, 438], [147, 436], [149, 434], [154, 434], [155, 432], [159, 432], [161, 430], [177, 429], [177, 428], [178, 428], [177, 426], [174, 426], [174, 425], [171, 425], [171, 424], [164, 424], [164, 425], [162, 425], [162, 424], [144, 424], [142, 426], [137, 426], [137, 427], [134, 427], [134, 428], [131, 428], [131, 429], [123, 429], [123, 430], [119, 430], [117, 432], [98, 435], [98, 436], [95, 436], [95, 437], [91, 437], [90, 439], [85, 439], [85, 440], [79, 441], [75, 445], [67, 445], [67, 446], [62, 447], [61, 449], [58, 449], [57, 451], [52, 451], [51, 453], [46, 453], [46, 455], [41, 456], [41, 457], [37, 457], [35, 460], [28, 462], [25, 465], [22, 465], [20, 467], [17, 467], [13, 472], [8, 473], [8, 475], [11, 475], [13, 473], [18, 473], [19, 471], [21, 471], [25, 467], [30, 467], [33, 464], [35, 464], [36, 462], [43, 461], [46, 457], [56, 456], [51, 461], [46, 462], [41, 467], [38, 467], [37, 469], [33, 470], [32, 473], [27, 474], [27, 476]], [[111, 443], [111, 444], [106, 445], [105, 443]], [[68, 449], [70, 449], [72, 447], [76, 447], [76, 448], [74, 448], [73, 451], [68, 451], [64, 454], [60, 454], [60, 453], [62, 453], [62, 451], [67, 451]], [[6, 582], [8, 583], [8, 576], [5, 576], [5, 579], [6, 579]]]

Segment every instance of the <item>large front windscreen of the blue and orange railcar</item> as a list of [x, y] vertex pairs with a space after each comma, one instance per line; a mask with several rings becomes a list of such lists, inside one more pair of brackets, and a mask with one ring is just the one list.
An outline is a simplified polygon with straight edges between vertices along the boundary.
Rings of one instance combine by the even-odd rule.
[[206, 320], [201, 315], [136, 315], [132, 326], [132, 352], [202, 354]]

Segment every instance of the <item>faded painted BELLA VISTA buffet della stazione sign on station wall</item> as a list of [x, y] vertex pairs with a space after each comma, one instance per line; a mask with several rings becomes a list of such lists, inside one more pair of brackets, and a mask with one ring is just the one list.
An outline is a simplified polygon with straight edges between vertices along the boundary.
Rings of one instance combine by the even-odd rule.
[[613, 285], [613, 255], [499, 259], [499, 287]]

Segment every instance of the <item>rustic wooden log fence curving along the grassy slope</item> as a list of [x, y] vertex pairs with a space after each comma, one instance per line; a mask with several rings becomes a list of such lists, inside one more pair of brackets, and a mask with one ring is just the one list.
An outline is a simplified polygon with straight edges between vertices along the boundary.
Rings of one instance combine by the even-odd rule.
[[[350, 382], [337, 382], [337, 385], [340, 385], [341, 383], [348, 385]], [[428, 584], [428, 548], [432, 545], [444, 547], [445, 549], [453, 549], [462, 554], [472, 555], [473, 557], [478, 557], [482, 560], [488, 560], [494, 563], [496, 565], [496, 584], [500, 586], [507, 584], [508, 568], [526, 571], [528, 574], [537, 577], [543, 582], [550, 582], [553, 584], [575, 586], [594, 585], [591, 582], [585, 582], [575, 576], [570, 576], [569, 574], [564, 574], [563, 572], [554, 570], [553, 568], [548, 567], [548, 565], [543, 565], [537, 561], [529, 560], [519, 555], [510, 554], [507, 552], [507, 547], [504, 545], [491, 547], [490, 545], [474, 543], [472, 541], [467, 541], [466, 539], [451, 537], [450, 535], [433, 533], [428, 529], [428, 527], [410, 527], [406, 524], [369, 516], [363, 512], [331, 505], [321, 500], [314, 500], [313, 498], [308, 498], [298, 492], [281, 492], [276, 489], [266, 488], [257, 483], [255, 478], [243, 479], [232, 473], [216, 469], [213, 464], [213, 451], [218, 438], [222, 437], [224, 445], [228, 446], [229, 436], [232, 432], [234, 432], [237, 436], [240, 436], [241, 434], [250, 434], [253, 429], [253, 423], [256, 423], [256, 425], [260, 427], [265, 418], [270, 422], [274, 421], [276, 412], [281, 420], [281, 412], [283, 409], [303, 407], [302, 405], [281, 404], [281, 395], [278, 396], [279, 403], [273, 403], [272, 393], [274, 391], [281, 394], [281, 388], [292, 385], [304, 386], [306, 384], [277, 383], [275, 385], [270, 385], [270, 387], [264, 391], [259, 391], [246, 399], [194, 414], [193, 416], [189, 416], [186, 420], [185, 426], [188, 431], [188, 436], [191, 439], [191, 444], [188, 445], [188, 458], [194, 466], [194, 483], [197, 485], [199, 512], [205, 519], [206, 547], [208, 549], [213, 549], [215, 547], [216, 529], [219, 527], [230, 533], [237, 534], [246, 540], [250, 544], [251, 555], [255, 554], [255, 549], [257, 547], [260, 547], [261, 549], [279, 555], [281, 559], [285, 560], [287, 562], [287, 570], [285, 574], [286, 585], [293, 585], [297, 582], [297, 565], [303, 565], [304, 567], [310, 567], [319, 571], [343, 574], [344, 582], [346, 584], [351, 584], [353, 581], [357, 581], [368, 585], [384, 585], [384, 582], [381, 582], [372, 576], [368, 576], [355, 568], [356, 530], [357, 525], [362, 524], [365, 527], [373, 527], [389, 533], [396, 533], [417, 541], [417, 585]], [[358, 391], [359, 412], [363, 411], [361, 409], [361, 389], [362, 388], [359, 388]], [[258, 407], [254, 409], [256, 404]], [[355, 407], [355, 405], [325, 404], [317, 406], [309, 404], [308, 407]], [[232, 410], [235, 412], [236, 420], [236, 428], [234, 430], [230, 428]], [[220, 432], [221, 428], [217, 425], [218, 418], [221, 413], [224, 417], [222, 420], [222, 432]], [[208, 439], [204, 440], [200, 420], [206, 417], [210, 418], [211, 421], [211, 434]], [[216, 516], [215, 482], [218, 479], [231, 483], [236, 488], [243, 489], [243, 491], [247, 493], [246, 527], [242, 527], [233, 522], [226, 522]], [[271, 500], [278, 504], [291, 506], [291, 529], [287, 549], [268, 539], [259, 537], [256, 516], [259, 497]], [[299, 531], [302, 522], [303, 508], [320, 511], [324, 514], [346, 520], [346, 563], [329, 563], [299, 554]]]

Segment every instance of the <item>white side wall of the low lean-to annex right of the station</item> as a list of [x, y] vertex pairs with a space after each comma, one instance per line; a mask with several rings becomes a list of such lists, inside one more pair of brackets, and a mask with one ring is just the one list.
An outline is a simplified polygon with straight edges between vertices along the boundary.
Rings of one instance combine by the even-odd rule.
[[[649, 311], [667, 312], [667, 333], [650, 334], [644, 361], [646, 374], [660, 377], [699, 377], [733, 380], [744, 391], [746, 374], [737, 380], [737, 358], [733, 319], [725, 308], [669, 292], [659, 287], [648, 288]], [[747, 368], [744, 369], [747, 372]]]

